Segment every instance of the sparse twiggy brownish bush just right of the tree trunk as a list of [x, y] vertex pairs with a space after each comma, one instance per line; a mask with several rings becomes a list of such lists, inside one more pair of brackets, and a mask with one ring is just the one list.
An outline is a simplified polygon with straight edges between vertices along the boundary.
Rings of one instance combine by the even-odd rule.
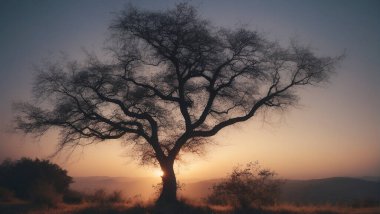
[[248, 163], [244, 168], [236, 167], [224, 181], [212, 187], [207, 201], [243, 210], [273, 205], [282, 183], [275, 175], [273, 171], [261, 169], [257, 162]]

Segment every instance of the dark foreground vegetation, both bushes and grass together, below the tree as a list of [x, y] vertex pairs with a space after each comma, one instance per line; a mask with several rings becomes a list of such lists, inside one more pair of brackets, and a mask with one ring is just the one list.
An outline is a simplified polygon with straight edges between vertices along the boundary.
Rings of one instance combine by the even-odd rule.
[[[16, 183], [21, 182], [21, 183]], [[294, 205], [278, 203], [281, 180], [257, 163], [236, 167], [216, 183], [203, 202], [181, 198], [174, 206], [157, 206], [121, 191], [70, 190], [71, 177], [46, 160], [23, 158], [0, 164], [0, 213], [124, 213], [124, 214], [375, 214], [379, 201], [341, 205]], [[19, 184], [19, 185], [16, 185]], [[22, 187], [22, 188], [21, 188]]]

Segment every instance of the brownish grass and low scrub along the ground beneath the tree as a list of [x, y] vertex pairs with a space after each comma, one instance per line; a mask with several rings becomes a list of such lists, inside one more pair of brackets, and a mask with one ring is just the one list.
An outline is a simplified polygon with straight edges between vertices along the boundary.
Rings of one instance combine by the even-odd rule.
[[[45, 191], [46, 192], [46, 191]], [[44, 192], [44, 193], [45, 193]], [[69, 191], [61, 200], [53, 200], [51, 196], [43, 194], [37, 197], [40, 200], [23, 201], [9, 195], [0, 200], [1, 214], [379, 214], [378, 202], [365, 204], [362, 207], [351, 205], [294, 205], [278, 204], [275, 206], [262, 207], [261, 209], [248, 208], [237, 210], [231, 206], [210, 205], [206, 202], [196, 202], [181, 198], [173, 208], [154, 206], [153, 201], [143, 202], [139, 197], [124, 198], [120, 191], [107, 193], [102, 189], [93, 193], [81, 193]], [[47, 200], [46, 198], [49, 198]], [[54, 198], [54, 197], [53, 197]], [[41, 203], [44, 202], [44, 203]], [[48, 202], [48, 203], [46, 203]]]

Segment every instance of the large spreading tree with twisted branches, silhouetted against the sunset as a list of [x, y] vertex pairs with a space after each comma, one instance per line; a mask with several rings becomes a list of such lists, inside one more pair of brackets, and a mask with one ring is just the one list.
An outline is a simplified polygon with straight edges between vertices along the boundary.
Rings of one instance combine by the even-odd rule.
[[180, 152], [200, 151], [264, 109], [294, 105], [296, 91], [324, 82], [338, 60], [296, 44], [282, 48], [249, 29], [216, 28], [187, 4], [130, 7], [110, 31], [107, 59], [39, 69], [34, 96], [50, 105], [17, 104], [17, 128], [59, 128], [58, 151], [107, 139], [133, 144], [141, 163], [164, 172], [158, 202], [176, 201]]

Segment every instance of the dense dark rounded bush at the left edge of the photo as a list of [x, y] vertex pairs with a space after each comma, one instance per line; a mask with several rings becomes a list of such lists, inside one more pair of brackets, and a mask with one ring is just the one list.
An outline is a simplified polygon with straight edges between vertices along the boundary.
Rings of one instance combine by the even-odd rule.
[[22, 158], [6, 160], [0, 165], [0, 186], [17, 198], [52, 205], [65, 193], [72, 178], [48, 160]]

